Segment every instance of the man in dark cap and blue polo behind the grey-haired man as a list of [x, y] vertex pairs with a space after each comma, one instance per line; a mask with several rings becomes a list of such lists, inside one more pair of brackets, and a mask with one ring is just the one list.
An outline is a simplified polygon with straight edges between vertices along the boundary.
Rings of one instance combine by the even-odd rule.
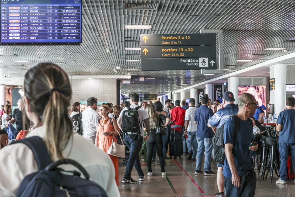
[[[216, 130], [222, 126], [230, 116], [236, 115], [239, 111], [237, 105], [235, 105], [235, 98], [232, 92], [224, 92], [222, 95], [222, 103], [220, 104], [219, 109], [211, 118], [208, 120], [208, 126], [212, 127], [213, 130]], [[215, 131], [216, 132], [216, 131]], [[217, 164], [217, 186], [218, 193], [215, 194], [215, 197], [224, 197], [224, 183], [222, 175], [222, 163]]]

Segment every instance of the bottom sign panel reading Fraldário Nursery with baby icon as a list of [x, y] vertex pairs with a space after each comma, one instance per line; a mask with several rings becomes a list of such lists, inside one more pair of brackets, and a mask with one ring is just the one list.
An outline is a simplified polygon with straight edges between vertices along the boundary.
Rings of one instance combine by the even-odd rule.
[[[211, 62], [211, 63], [210, 63]], [[216, 58], [141, 59], [142, 71], [216, 69]]]

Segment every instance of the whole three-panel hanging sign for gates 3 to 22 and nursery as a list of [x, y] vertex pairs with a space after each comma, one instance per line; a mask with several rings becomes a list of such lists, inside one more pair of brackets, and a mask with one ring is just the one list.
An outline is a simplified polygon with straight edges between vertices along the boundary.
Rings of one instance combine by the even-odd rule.
[[141, 70], [216, 69], [216, 34], [141, 34]]

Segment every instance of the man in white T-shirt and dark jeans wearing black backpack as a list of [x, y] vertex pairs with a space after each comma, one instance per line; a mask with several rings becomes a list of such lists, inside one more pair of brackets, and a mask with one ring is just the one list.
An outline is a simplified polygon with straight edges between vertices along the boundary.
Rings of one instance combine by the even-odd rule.
[[[130, 100], [132, 102], [132, 105], [130, 105], [130, 108], [135, 109], [136, 107], [138, 107], [139, 95], [137, 93], [131, 94]], [[120, 128], [122, 125], [123, 112], [128, 109], [129, 109], [128, 107], [122, 109], [122, 111], [119, 115], [117, 123]], [[135, 169], [137, 171], [140, 181], [144, 180], [144, 177], [145, 177], [145, 175], [141, 169], [141, 166], [140, 166], [139, 152], [142, 147], [142, 140], [147, 141], [150, 136], [150, 123], [149, 123], [148, 113], [144, 108], [140, 107], [137, 111], [138, 111], [138, 118], [139, 118], [139, 125], [140, 125], [140, 135], [138, 135], [138, 134], [132, 135], [131, 132], [127, 132], [127, 134], [124, 133], [124, 135], [125, 135], [124, 142], [125, 142], [126, 146], [128, 147], [128, 149], [130, 150], [130, 155], [129, 155], [129, 159], [128, 159], [128, 162], [126, 165], [125, 175], [122, 180], [122, 183], [137, 183], [136, 180], [133, 180], [131, 178], [131, 171], [132, 171], [133, 166], [135, 167]], [[143, 123], [145, 125], [145, 131], [147, 132], [146, 136], [144, 136], [144, 134], [143, 134], [143, 128], [144, 128]]]

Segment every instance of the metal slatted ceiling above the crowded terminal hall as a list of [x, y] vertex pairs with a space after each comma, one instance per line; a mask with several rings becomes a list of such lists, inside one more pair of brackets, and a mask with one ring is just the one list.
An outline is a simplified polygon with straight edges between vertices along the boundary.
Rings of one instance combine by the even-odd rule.
[[[158, 3], [159, 7], [158, 10], [123, 9], [125, 3]], [[135, 92], [165, 93], [175, 86], [185, 87], [221, 75], [204, 76], [198, 70], [140, 71], [140, 62], [125, 61], [140, 60], [140, 51], [125, 48], [139, 48], [140, 43], [134, 40], [145, 33], [199, 33], [201, 28], [222, 29], [224, 65], [237, 65], [228, 67], [232, 71], [295, 51], [294, 43], [284, 42], [295, 38], [294, 0], [84, 0], [82, 4], [83, 43], [80, 46], [0, 46], [0, 54], [17, 54], [0, 56], [0, 83], [22, 84], [28, 66], [42, 61], [59, 64], [70, 75], [136, 74], [155, 78], [139, 81], [132, 75], [135, 83], [128, 87], [132, 86]], [[124, 30], [124, 25], [152, 25], [152, 28]], [[277, 47], [288, 51], [264, 51]], [[238, 59], [253, 61], [235, 62]], [[114, 71], [117, 66], [121, 69]], [[11, 77], [4, 78], [4, 74]], [[121, 87], [127, 92], [126, 84]]]

